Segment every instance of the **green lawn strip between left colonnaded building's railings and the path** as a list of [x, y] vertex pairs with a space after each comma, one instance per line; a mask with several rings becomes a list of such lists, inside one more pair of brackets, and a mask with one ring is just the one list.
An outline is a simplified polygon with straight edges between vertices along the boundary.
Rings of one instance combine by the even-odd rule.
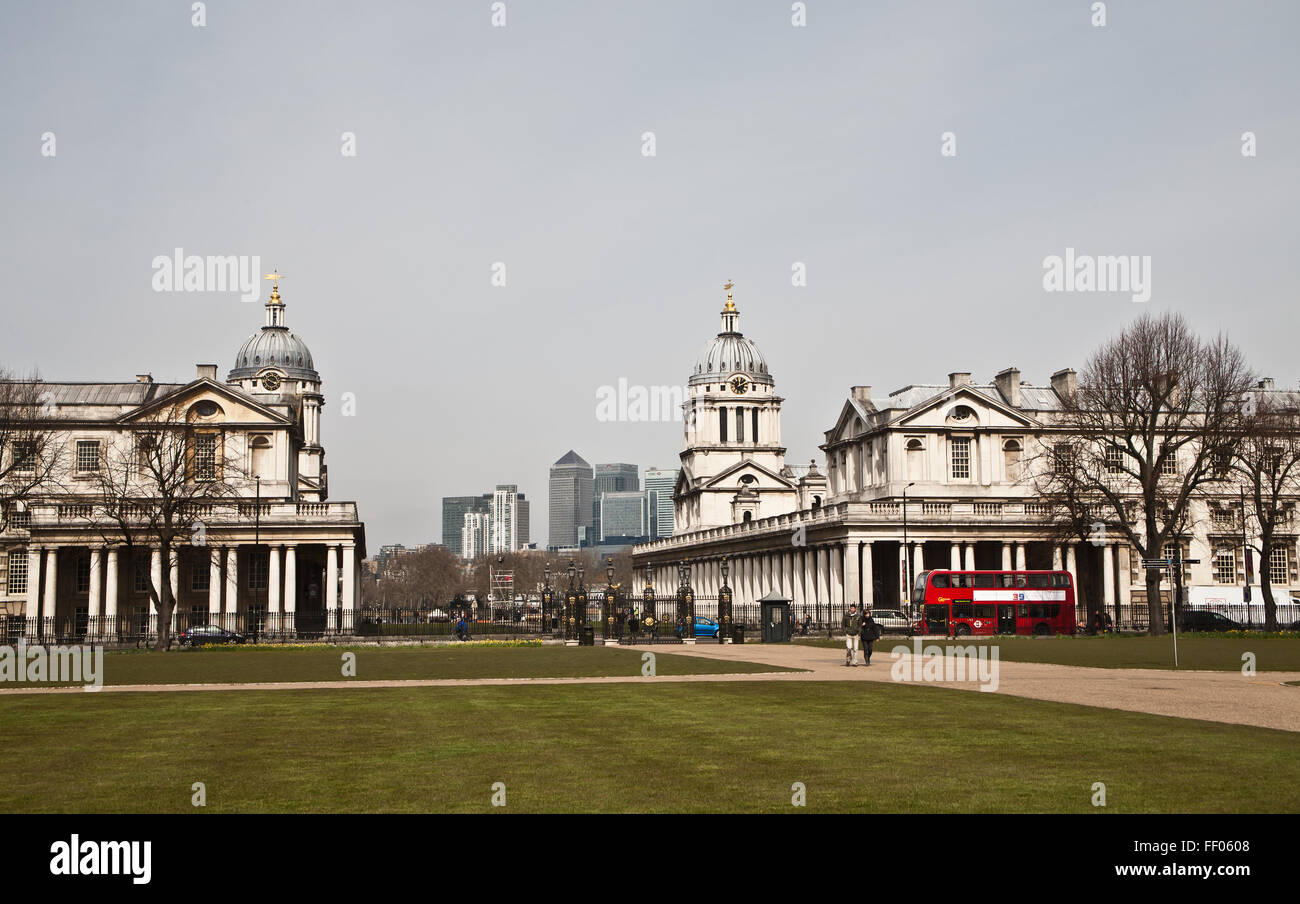
[[[346, 682], [343, 654], [356, 654], [356, 678], [589, 678], [640, 675], [641, 652], [616, 646], [213, 648], [170, 653], [104, 654], [104, 684], [225, 684], [247, 682]], [[654, 650], [659, 675], [789, 671], [757, 662], [728, 662]], [[13, 687], [13, 685], [9, 685]]]

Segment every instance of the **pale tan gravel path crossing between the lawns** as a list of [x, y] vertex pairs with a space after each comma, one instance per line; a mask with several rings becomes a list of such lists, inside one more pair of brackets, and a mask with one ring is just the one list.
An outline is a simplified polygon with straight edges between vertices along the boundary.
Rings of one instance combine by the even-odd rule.
[[[844, 652], [809, 644], [731, 644], [625, 646], [623, 649], [679, 653], [711, 659], [760, 662], [797, 672], [751, 672], [731, 675], [659, 675], [642, 678], [616, 675], [603, 678], [471, 678], [416, 680], [337, 680], [337, 682], [268, 682], [233, 684], [117, 684], [104, 685], [101, 693], [159, 693], [194, 691], [313, 691], [341, 688], [419, 688], [419, 687], [491, 687], [521, 684], [627, 684], [682, 682], [892, 682], [894, 662], [887, 641], [876, 650], [870, 667], [845, 667]], [[902, 657], [905, 671], [911, 670], [911, 654]], [[919, 665], [919, 663], [918, 663]], [[1300, 672], [1260, 672], [1247, 678], [1239, 671], [1165, 671], [1148, 669], [1084, 669], [1036, 662], [1000, 661], [997, 689], [1014, 697], [1053, 700], [1066, 704], [1122, 709], [1134, 713], [1174, 715], [1210, 722], [1253, 725], [1264, 728], [1300, 731], [1300, 687], [1283, 682], [1300, 680]], [[980, 692], [978, 680], [926, 682], [941, 687]], [[3, 688], [0, 696], [40, 693], [84, 693], [82, 687]]]

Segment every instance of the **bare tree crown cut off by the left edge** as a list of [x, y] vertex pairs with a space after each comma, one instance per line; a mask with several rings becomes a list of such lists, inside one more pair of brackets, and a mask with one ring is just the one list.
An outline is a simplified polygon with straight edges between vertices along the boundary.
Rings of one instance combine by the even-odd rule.
[[18, 505], [52, 489], [61, 467], [53, 441], [53, 394], [32, 375], [14, 379], [0, 367], [0, 532]]

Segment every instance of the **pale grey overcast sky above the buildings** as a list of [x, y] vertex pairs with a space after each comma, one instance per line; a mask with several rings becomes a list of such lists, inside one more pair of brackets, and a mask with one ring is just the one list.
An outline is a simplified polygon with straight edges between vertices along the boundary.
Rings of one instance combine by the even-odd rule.
[[[680, 423], [601, 423], [597, 392], [685, 382], [728, 278], [794, 463], [850, 385], [1044, 384], [1143, 311], [1300, 379], [1294, 0], [504, 7], [4, 4], [0, 364], [224, 377], [261, 304], [155, 293], [151, 261], [259, 255], [370, 552], [498, 483], [545, 542], [571, 447], [676, 467]], [[1067, 247], [1149, 256], [1150, 300], [1045, 291]]]

